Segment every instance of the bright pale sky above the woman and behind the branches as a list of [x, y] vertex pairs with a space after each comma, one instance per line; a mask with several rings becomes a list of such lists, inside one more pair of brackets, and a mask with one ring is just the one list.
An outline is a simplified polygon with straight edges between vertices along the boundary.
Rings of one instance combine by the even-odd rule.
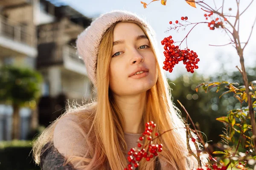
[[[250, 0], [240, 1], [239, 10], [243, 11], [250, 3]], [[140, 3], [140, 0], [58, 0], [58, 2], [71, 6], [87, 17], [97, 17], [100, 14], [111, 10], [124, 9], [134, 12], [140, 17], [146, 18], [147, 22], [156, 33], [158, 50], [162, 55], [161, 59], [163, 59], [160, 61], [160, 65], [162, 66], [164, 61], [164, 50], [163, 45], [160, 43], [161, 40], [163, 40], [164, 37], [172, 35], [174, 41], [181, 41], [192, 28], [192, 26], [188, 26], [185, 30], [180, 29], [178, 32], [175, 30], [167, 31], [170, 27], [169, 21], [174, 23], [175, 20], [180, 21], [180, 17], [185, 16], [189, 18], [188, 21], [191, 23], [207, 21], [204, 17], [206, 12], [203, 11], [200, 6], [193, 8], [189, 6], [185, 0], [167, 0], [166, 6], [161, 5], [160, 1], [154, 1], [145, 9], [143, 8], [143, 4]], [[143, 2], [150, 3], [151, 0], [144, 0]], [[204, 0], [204, 2], [212, 8], [215, 8], [215, 5], [217, 8], [222, 6], [222, 0], [215, 0], [215, 2], [214, 0]], [[229, 11], [229, 8], [232, 8], [232, 10]], [[246, 42], [249, 37], [253, 21], [256, 17], [255, 8], [256, 1], [254, 1], [241, 16], [241, 22], [239, 24], [239, 36], [241, 42]], [[226, 14], [236, 14], [236, 9], [236, 0], [225, 0], [223, 10]], [[228, 18], [228, 20], [233, 22], [233, 18]], [[255, 27], [253, 28], [253, 34], [251, 35], [250, 41], [244, 49], [245, 68], [255, 67], [256, 65]], [[221, 29], [215, 29], [214, 31], [209, 30], [207, 24], [199, 24], [193, 28], [188, 35], [187, 45], [189, 49], [198, 54], [198, 58], [200, 59], [200, 62], [198, 62], [199, 68], [195, 71], [205, 76], [218, 74], [223, 70], [236, 71], [236, 65], [240, 66], [240, 62], [236, 49], [232, 45], [210, 46], [224, 45], [229, 42], [229, 37]], [[181, 48], [186, 48], [185, 42], [183, 42]], [[175, 79], [183, 74], [191, 75], [191, 73], [186, 72], [185, 65], [183, 65], [182, 62], [175, 65], [172, 73], [166, 72], [166, 74], [169, 79]]]

